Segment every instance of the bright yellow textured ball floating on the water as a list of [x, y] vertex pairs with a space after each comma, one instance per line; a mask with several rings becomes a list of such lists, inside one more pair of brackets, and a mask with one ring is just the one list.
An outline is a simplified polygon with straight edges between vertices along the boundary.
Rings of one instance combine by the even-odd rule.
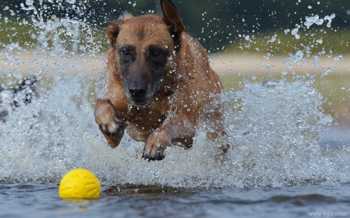
[[65, 174], [58, 193], [63, 198], [99, 198], [100, 181], [89, 170], [75, 169]]

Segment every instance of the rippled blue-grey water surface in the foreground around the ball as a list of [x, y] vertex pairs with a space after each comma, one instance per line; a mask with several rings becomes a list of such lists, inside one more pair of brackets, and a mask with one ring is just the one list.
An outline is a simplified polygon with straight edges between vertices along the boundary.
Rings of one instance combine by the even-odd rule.
[[2, 185], [0, 202], [2, 217], [333, 217], [336, 213], [345, 217], [349, 188], [349, 184], [208, 189], [127, 185], [104, 187], [97, 200], [63, 200], [57, 196], [57, 186], [20, 184]]

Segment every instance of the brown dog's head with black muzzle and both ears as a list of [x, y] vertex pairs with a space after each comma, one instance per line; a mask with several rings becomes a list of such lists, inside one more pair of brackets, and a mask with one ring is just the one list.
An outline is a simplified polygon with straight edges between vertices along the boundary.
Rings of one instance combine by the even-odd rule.
[[[173, 2], [161, 0], [163, 18], [148, 14], [108, 22], [113, 65], [121, 73], [126, 96], [135, 106], [151, 102], [179, 50], [184, 31]], [[111, 59], [110, 59], [111, 61]]]

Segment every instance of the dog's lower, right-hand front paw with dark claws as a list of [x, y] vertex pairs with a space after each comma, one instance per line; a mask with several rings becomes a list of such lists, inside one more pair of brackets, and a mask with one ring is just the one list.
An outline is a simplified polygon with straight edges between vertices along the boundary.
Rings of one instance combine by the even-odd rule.
[[148, 138], [145, 143], [144, 152], [142, 153], [142, 157], [148, 161], [150, 160], [162, 160], [165, 157], [164, 150], [170, 146], [170, 142], [166, 142], [163, 140], [152, 140]]

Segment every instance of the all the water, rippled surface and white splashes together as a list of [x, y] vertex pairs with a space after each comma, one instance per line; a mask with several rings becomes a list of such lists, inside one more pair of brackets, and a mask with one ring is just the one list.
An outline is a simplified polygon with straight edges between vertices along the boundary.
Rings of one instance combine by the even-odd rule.
[[[69, 3], [74, 9], [75, 1]], [[44, 7], [28, 0], [21, 5], [28, 12], [21, 24], [5, 17], [0, 22], [28, 28], [33, 40], [25, 39], [25, 45], [15, 37], [1, 42], [0, 106], [7, 113], [0, 124], [1, 217], [350, 214], [348, 130], [331, 125], [323, 109], [328, 101], [313, 87], [316, 76], [325, 78], [335, 69], [329, 66], [322, 75], [293, 71], [295, 65], [307, 65], [310, 47], [283, 61], [288, 71], [281, 74], [292, 75], [291, 80], [271, 74], [254, 82], [258, 78], [251, 76], [240, 89], [216, 96], [216, 103], [226, 108], [227, 138], [211, 142], [205, 134], [210, 129], [201, 123], [191, 150], [174, 146], [164, 160], [147, 162], [141, 158], [142, 143], [125, 135], [111, 150], [94, 122], [107, 42], [84, 20], [52, 15], [46, 21]], [[322, 24], [318, 16], [309, 16], [307, 28], [299, 26], [292, 34], [302, 37], [313, 22], [329, 28], [333, 18], [327, 15]], [[278, 34], [267, 38], [269, 43], [281, 40]], [[324, 53], [316, 53], [314, 60]], [[267, 57], [271, 60], [273, 53]], [[342, 61], [343, 55], [334, 60]], [[14, 84], [28, 76], [38, 79], [36, 91], [14, 92]], [[23, 100], [28, 96], [30, 103]], [[231, 145], [225, 155], [218, 149], [223, 142]], [[59, 198], [58, 183], [73, 168], [95, 173], [102, 183], [101, 198]]]

